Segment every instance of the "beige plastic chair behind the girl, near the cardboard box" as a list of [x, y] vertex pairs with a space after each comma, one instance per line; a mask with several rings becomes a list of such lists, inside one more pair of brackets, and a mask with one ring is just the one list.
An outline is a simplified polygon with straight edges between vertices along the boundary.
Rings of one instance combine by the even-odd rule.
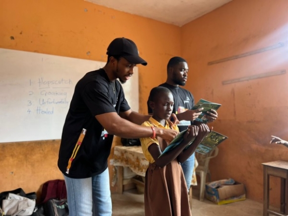
[[195, 157], [198, 161], [198, 166], [196, 167], [196, 174], [198, 174], [201, 178], [200, 183], [200, 201], [204, 200], [205, 195], [205, 185], [206, 185], [206, 177], [208, 175], [208, 181], [211, 182], [211, 173], [209, 170], [209, 161], [211, 158], [217, 156], [219, 149], [215, 147], [212, 151], [207, 154], [201, 154], [195, 152]]

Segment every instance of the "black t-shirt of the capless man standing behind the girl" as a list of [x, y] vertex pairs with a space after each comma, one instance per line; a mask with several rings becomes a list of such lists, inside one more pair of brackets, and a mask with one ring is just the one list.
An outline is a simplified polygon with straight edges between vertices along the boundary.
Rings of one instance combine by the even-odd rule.
[[[194, 106], [194, 97], [191, 94], [190, 91], [181, 88], [179, 86], [169, 85], [168, 83], [160, 84], [159, 86], [168, 88], [174, 97], [174, 107], [173, 107], [173, 113], [183, 113], [186, 110], [191, 110]], [[147, 102], [148, 106], [148, 113], [152, 113], [152, 109], [149, 107], [149, 104]], [[178, 125], [179, 131], [184, 131], [187, 129], [189, 125], [192, 125], [193, 122], [190, 121], [181, 121]]]

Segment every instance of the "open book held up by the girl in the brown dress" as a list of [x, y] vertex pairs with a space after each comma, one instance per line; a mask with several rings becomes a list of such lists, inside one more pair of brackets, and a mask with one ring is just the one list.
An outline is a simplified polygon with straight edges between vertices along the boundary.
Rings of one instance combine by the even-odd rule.
[[[179, 133], [172, 141], [171, 143], [162, 151], [159, 157], [161, 157], [163, 154], [167, 153], [168, 151], [172, 150], [174, 147], [176, 147], [178, 144], [180, 144], [183, 141], [184, 134], [187, 130], [182, 131]], [[226, 140], [228, 137], [221, 135], [215, 131], [211, 131], [204, 139], [203, 141], [197, 146], [196, 152], [207, 154], [210, 152], [213, 148], [215, 148], [218, 144], [222, 143], [224, 140]], [[194, 139], [195, 140], [195, 139]], [[192, 144], [194, 142], [190, 144]], [[186, 146], [188, 148], [189, 145]], [[186, 149], [185, 148], [185, 149]]]

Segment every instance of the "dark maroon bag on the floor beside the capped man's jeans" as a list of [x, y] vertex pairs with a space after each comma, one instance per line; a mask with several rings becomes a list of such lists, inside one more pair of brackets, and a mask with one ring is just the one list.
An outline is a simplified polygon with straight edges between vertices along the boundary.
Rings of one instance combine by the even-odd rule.
[[64, 180], [50, 180], [43, 184], [40, 202], [41, 204], [45, 204], [50, 199], [67, 199], [67, 191]]

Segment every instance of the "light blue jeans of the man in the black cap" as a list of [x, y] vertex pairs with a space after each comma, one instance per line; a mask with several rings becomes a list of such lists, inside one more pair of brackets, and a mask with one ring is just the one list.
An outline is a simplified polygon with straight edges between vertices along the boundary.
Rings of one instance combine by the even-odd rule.
[[[69, 216], [111, 216], [112, 201], [108, 168], [91, 178], [64, 176]], [[93, 211], [93, 213], [92, 213]]]

